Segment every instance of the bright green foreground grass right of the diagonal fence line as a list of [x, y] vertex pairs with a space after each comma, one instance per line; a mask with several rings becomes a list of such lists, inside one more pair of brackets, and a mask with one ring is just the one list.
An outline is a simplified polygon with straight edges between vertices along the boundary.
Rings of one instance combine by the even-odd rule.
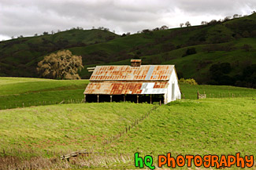
[[112, 152], [256, 154], [256, 98], [181, 100], [158, 107]]

